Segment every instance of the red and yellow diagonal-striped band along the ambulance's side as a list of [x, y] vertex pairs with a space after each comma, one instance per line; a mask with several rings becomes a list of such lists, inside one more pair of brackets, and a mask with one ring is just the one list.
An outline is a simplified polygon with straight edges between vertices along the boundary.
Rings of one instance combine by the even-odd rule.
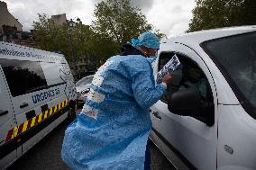
[[14, 139], [16, 136], [22, 134], [24, 131], [29, 130], [30, 128], [37, 125], [41, 121], [47, 119], [48, 117], [50, 117], [55, 112], [58, 112], [63, 107], [67, 106], [68, 103], [69, 103], [69, 101], [63, 101], [62, 103], [59, 103], [59, 104], [53, 106], [49, 110], [47, 110], [45, 112], [41, 112], [40, 114], [36, 115], [32, 119], [30, 119], [28, 121], [25, 121], [22, 124], [14, 127], [14, 129], [9, 130], [8, 133], [7, 133], [5, 142], [7, 142], [11, 139]]

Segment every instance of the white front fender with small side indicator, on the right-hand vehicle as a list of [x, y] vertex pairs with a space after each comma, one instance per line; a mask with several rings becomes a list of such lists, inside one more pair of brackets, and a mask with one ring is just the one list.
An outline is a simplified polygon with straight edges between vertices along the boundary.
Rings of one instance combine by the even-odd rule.
[[220, 104], [218, 112], [218, 169], [256, 169], [256, 120], [241, 105]]

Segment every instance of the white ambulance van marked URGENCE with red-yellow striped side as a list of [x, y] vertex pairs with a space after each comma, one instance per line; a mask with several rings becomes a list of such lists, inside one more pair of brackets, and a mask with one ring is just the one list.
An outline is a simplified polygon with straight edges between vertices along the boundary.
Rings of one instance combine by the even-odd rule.
[[0, 42], [0, 169], [73, 118], [75, 99], [63, 55]]

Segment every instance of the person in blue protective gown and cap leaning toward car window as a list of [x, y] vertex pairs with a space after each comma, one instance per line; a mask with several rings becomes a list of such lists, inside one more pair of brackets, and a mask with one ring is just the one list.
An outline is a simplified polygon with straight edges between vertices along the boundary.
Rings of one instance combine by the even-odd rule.
[[155, 85], [146, 57], [156, 55], [159, 46], [155, 34], [144, 32], [97, 70], [82, 112], [65, 131], [61, 157], [70, 168], [146, 168], [149, 108], [172, 80], [165, 76], [162, 84]]

